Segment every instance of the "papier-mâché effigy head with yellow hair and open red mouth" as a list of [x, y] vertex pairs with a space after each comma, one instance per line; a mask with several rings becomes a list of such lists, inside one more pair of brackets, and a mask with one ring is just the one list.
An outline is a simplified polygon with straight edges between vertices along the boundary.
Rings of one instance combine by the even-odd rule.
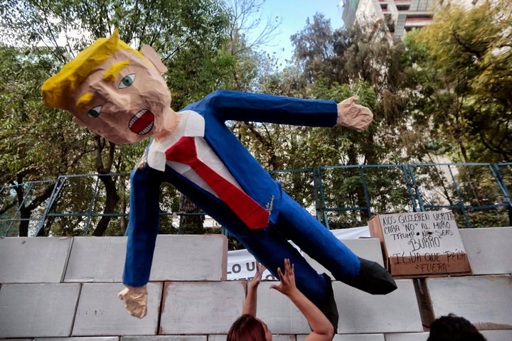
[[119, 40], [117, 30], [100, 38], [44, 82], [49, 107], [65, 109], [73, 121], [116, 144], [159, 134], [171, 93], [166, 67], [149, 46], [142, 52]]

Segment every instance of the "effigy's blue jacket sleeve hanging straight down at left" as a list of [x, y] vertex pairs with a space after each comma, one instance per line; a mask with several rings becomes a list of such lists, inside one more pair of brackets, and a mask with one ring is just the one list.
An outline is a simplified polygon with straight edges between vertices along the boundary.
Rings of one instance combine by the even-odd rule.
[[130, 211], [123, 283], [144, 286], [149, 281], [156, 235], [159, 231], [161, 177], [147, 164], [130, 175]]

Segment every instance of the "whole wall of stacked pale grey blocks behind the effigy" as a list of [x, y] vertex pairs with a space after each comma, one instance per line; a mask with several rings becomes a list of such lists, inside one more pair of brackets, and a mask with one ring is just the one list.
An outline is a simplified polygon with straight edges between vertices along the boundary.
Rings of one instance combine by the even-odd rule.
[[[460, 232], [473, 276], [399, 279], [386, 296], [334, 281], [334, 341], [425, 341], [425, 325], [447, 313], [489, 341], [512, 340], [512, 227]], [[343, 242], [383, 264], [378, 239]], [[142, 320], [117, 298], [125, 247], [125, 237], [0, 239], [0, 340], [225, 341], [246, 291], [245, 281], [226, 281], [225, 237], [159, 236]], [[258, 317], [274, 341], [304, 340], [306, 320], [271, 284], [260, 285]]]

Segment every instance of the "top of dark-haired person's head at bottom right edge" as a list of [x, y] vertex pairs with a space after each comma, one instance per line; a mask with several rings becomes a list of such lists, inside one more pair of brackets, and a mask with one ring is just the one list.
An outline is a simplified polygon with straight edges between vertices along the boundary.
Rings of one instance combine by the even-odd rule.
[[449, 314], [432, 322], [427, 341], [486, 341], [486, 339], [468, 320]]

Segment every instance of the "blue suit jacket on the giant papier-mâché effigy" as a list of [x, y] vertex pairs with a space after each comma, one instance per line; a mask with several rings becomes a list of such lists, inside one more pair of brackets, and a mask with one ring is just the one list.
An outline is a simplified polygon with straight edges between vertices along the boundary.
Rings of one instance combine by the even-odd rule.
[[[204, 138], [245, 193], [270, 210], [270, 227], [279, 214], [281, 186], [240, 144], [225, 121], [331, 127], [336, 125], [338, 113], [336, 102], [333, 101], [225, 90], [213, 92], [183, 110], [192, 110], [204, 117]], [[132, 172], [131, 180], [129, 240], [123, 276], [124, 284], [128, 286], [143, 286], [149, 280], [154, 242], [159, 229], [159, 186], [162, 182], [174, 184], [224, 227], [229, 229], [233, 224], [233, 212], [227, 205], [169, 167], [165, 172], [156, 171], [143, 161]]]

